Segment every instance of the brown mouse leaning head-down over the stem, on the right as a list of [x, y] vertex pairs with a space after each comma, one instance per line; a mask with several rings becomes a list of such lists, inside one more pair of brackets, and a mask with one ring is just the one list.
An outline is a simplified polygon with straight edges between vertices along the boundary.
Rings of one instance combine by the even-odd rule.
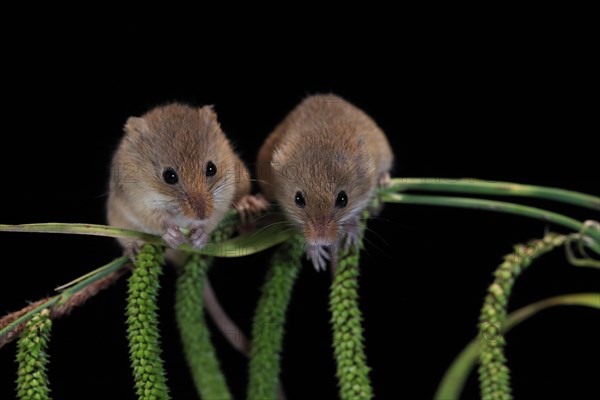
[[387, 138], [362, 110], [335, 95], [306, 98], [267, 138], [258, 179], [270, 201], [303, 233], [314, 267], [328, 248], [357, 245], [359, 219], [378, 186], [390, 182]]

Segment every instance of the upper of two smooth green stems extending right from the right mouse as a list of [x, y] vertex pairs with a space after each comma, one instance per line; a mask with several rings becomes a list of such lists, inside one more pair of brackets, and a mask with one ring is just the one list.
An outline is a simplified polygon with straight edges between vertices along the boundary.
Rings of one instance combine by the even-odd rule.
[[435, 191], [485, 194], [493, 196], [519, 196], [553, 200], [600, 211], [600, 197], [571, 190], [545, 186], [523, 185], [512, 182], [483, 181], [477, 179], [449, 178], [394, 178], [392, 191]]

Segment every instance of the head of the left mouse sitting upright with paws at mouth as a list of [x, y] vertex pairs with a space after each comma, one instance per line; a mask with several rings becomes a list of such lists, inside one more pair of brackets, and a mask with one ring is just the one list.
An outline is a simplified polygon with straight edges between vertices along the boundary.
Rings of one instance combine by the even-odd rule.
[[182, 223], [229, 208], [238, 158], [211, 107], [157, 107], [129, 118], [125, 132], [121, 147], [139, 178], [130, 195], [146, 207]]

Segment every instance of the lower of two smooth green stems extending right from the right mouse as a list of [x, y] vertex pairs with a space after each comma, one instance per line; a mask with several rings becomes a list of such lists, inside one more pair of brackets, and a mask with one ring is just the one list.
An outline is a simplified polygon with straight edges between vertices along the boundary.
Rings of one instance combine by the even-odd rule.
[[[382, 195], [382, 201], [388, 203], [417, 204], [440, 207], [459, 207], [470, 208], [475, 210], [503, 212], [550, 222], [556, 225], [566, 227], [575, 232], [580, 232], [583, 228], [582, 222], [579, 222], [573, 218], [561, 214], [557, 214], [552, 211], [546, 211], [540, 208], [523, 206], [519, 204], [507, 203], [496, 200], [473, 199], [466, 197], [451, 196], [426, 196], [413, 194], [385, 193]], [[600, 254], [600, 238], [598, 238], [597, 236], [597, 234], [591, 234], [588, 232], [586, 238], [589, 239], [589, 241], [587, 242], [589, 244], [589, 248], [591, 248], [594, 252]]]

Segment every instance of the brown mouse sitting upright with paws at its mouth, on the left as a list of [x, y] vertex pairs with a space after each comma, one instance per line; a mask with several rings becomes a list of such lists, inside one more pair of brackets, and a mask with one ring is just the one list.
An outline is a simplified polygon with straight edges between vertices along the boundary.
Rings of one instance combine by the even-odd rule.
[[[172, 248], [201, 248], [249, 191], [248, 171], [212, 107], [173, 103], [127, 120], [112, 161], [108, 222], [160, 235]], [[120, 242], [126, 250], [140, 244]]]

